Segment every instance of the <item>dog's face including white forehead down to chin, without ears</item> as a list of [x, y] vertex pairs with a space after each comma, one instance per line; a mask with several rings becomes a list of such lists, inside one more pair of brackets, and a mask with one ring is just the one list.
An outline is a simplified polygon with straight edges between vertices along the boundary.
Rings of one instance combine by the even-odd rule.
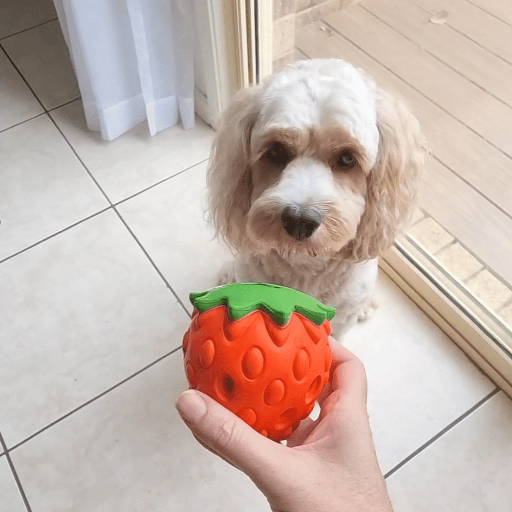
[[365, 210], [377, 147], [375, 100], [355, 68], [304, 62], [281, 73], [252, 130], [248, 237], [284, 255], [342, 249]]

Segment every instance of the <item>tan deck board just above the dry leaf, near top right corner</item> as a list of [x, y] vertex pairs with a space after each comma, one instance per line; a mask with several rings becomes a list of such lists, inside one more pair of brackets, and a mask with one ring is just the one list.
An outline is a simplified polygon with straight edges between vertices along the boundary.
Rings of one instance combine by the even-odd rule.
[[[501, 19], [468, 0], [414, 0], [414, 3], [431, 14], [448, 11], [447, 25], [512, 63], [512, 26]], [[510, 10], [510, 2], [502, 1], [501, 4], [508, 4]]]

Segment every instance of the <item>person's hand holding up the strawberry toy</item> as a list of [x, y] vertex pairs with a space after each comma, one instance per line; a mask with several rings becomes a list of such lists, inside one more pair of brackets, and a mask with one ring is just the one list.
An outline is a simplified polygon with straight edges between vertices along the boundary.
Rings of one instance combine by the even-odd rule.
[[196, 439], [249, 476], [274, 512], [392, 512], [368, 422], [365, 369], [334, 338], [329, 343], [320, 416], [304, 420], [287, 446], [203, 393], [185, 391], [176, 408]]

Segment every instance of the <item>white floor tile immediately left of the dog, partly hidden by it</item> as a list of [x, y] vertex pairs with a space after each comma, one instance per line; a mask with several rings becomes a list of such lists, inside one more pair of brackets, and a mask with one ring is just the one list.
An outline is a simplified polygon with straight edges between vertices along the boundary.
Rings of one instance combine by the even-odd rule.
[[206, 165], [188, 169], [118, 206], [190, 312], [188, 294], [217, 286], [222, 264], [232, 258], [212, 239], [214, 232], [204, 220]]

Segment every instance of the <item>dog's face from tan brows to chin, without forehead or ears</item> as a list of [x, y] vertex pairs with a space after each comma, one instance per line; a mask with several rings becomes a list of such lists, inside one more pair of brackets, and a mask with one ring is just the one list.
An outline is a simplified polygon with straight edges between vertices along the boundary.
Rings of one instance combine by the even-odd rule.
[[283, 254], [342, 249], [365, 210], [365, 155], [341, 130], [273, 130], [267, 140], [251, 165], [249, 238]]

